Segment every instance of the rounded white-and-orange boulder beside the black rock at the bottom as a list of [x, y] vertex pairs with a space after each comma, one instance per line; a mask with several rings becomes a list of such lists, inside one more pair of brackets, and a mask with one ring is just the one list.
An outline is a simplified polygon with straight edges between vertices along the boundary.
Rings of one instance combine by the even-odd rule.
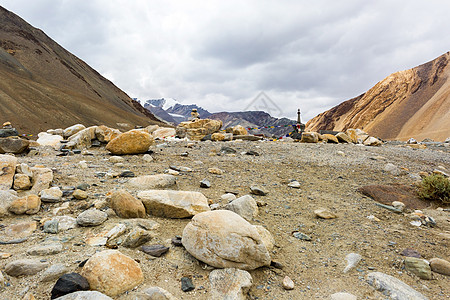
[[139, 264], [117, 250], [94, 254], [80, 275], [88, 280], [92, 290], [111, 297], [129, 291], [144, 281]]

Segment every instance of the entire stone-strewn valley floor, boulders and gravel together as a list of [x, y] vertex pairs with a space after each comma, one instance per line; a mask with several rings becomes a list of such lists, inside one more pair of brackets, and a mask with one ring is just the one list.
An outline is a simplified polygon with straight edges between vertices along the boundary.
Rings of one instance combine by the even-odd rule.
[[[50, 131], [61, 134], [54, 147], [16, 154], [14, 169], [5, 167], [13, 156], [0, 155], [1, 299], [49, 299], [70, 272], [112, 299], [450, 297], [449, 208], [414, 195], [393, 207], [386, 194], [382, 206], [359, 192], [448, 174], [449, 143], [199, 142], [157, 138], [153, 128], [148, 150], [118, 156], [129, 143], [114, 145], [113, 130], [83, 129], [89, 142], [69, 131]], [[14, 183], [4, 184], [11, 172]], [[154, 199], [164, 195], [187, 208]], [[201, 238], [208, 234], [214, 246]]]

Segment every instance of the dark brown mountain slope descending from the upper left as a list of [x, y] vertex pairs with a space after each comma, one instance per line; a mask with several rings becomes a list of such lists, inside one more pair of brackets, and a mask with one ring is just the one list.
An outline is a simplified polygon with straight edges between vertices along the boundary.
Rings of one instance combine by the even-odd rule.
[[159, 123], [85, 62], [0, 6], [0, 122], [5, 121], [32, 134], [76, 123]]

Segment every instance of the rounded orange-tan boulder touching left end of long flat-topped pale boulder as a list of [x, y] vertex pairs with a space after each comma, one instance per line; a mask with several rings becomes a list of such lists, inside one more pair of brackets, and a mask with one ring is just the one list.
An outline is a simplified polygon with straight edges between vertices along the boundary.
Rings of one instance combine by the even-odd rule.
[[111, 195], [111, 208], [120, 218], [145, 218], [145, 207], [126, 190], [118, 190]]

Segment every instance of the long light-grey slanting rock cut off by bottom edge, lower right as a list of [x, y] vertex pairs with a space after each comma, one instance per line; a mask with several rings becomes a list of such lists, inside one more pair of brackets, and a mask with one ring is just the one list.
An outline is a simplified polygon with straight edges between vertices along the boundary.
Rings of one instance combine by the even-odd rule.
[[367, 274], [367, 282], [391, 300], [428, 300], [403, 281], [381, 272]]

